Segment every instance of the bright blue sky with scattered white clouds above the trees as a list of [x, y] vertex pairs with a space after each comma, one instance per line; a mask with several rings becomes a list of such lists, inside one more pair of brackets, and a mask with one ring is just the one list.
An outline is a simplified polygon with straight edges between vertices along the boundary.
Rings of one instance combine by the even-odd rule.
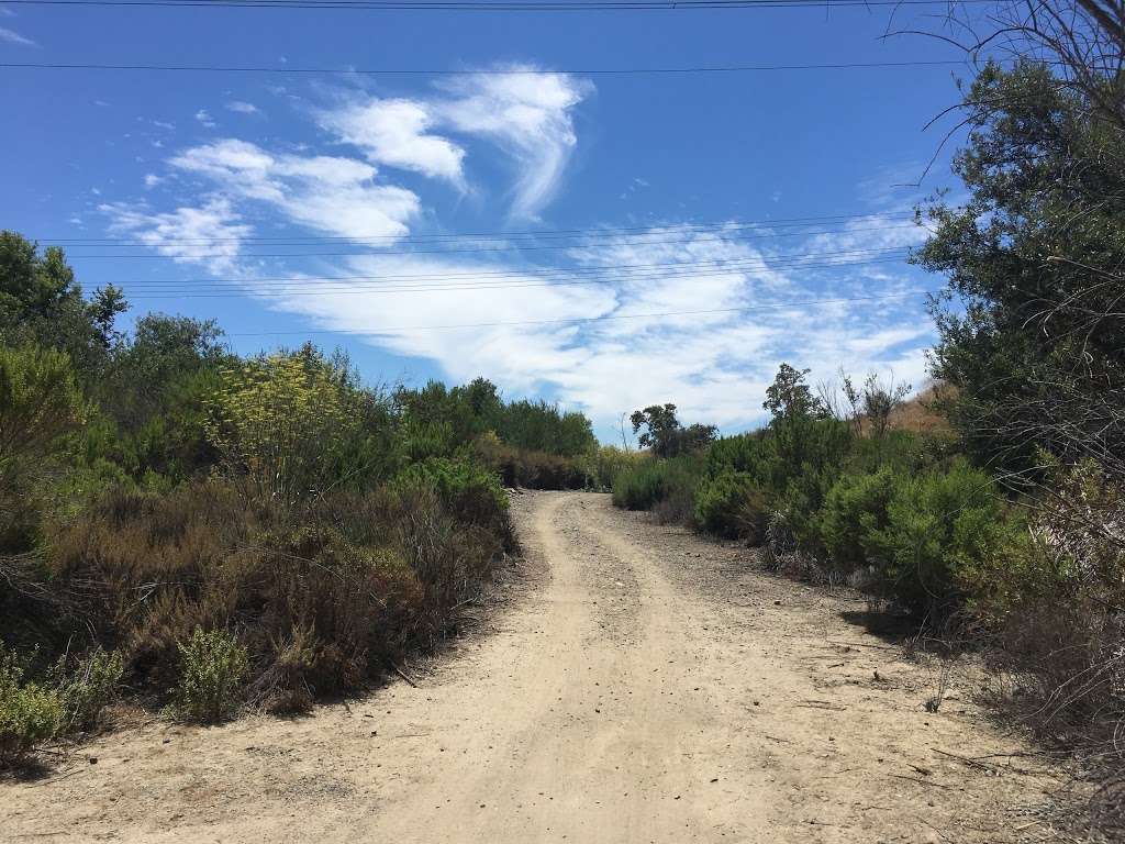
[[940, 285], [901, 260], [925, 232], [894, 212], [955, 187], [944, 153], [900, 186], [957, 69], [582, 71], [958, 57], [882, 39], [889, 14], [0, 5], [2, 62], [487, 71], [0, 70], [0, 225], [75, 241], [83, 286], [215, 317], [238, 351], [484, 375], [606, 440], [657, 402], [740, 430], [782, 360], [924, 380], [924, 299], [882, 297]]

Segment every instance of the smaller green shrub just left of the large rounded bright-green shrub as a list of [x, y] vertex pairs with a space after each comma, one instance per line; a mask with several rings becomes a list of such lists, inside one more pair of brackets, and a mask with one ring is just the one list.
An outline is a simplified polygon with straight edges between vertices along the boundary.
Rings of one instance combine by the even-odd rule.
[[847, 574], [866, 564], [864, 539], [885, 530], [894, 486], [896, 474], [883, 468], [870, 475], [843, 475], [828, 491], [819, 530], [832, 568]]

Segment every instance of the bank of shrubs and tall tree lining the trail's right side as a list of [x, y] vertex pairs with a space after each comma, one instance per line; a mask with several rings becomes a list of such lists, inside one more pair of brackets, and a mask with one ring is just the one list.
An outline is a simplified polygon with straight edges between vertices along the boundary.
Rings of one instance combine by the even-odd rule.
[[713, 429], [682, 428], [674, 405], [638, 411], [650, 459], [613, 494], [982, 648], [1008, 681], [998, 702], [1105, 778], [1098, 811], [1119, 829], [1125, 99], [1119, 74], [1060, 46], [1119, 55], [1119, 32], [1090, 25], [1101, 41], [1043, 42], [1072, 83], [1020, 61], [965, 90], [969, 199], [918, 209], [933, 234], [911, 259], [947, 279], [934, 387], [903, 402], [845, 378], [818, 395], [783, 363], [758, 431], [701, 439]]

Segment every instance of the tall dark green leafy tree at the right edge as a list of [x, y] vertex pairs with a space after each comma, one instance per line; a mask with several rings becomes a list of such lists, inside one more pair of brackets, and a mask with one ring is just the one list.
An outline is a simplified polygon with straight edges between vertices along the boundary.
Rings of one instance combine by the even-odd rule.
[[1041, 448], [1125, 477], [1122, 128], [1030, 62], [987, 66], [964, 107], [969, 200], [925, 209], [935, 234], [914, 258], [948, 279], [930, 303], [946, 411], [1010, 478], [1033, 477]]

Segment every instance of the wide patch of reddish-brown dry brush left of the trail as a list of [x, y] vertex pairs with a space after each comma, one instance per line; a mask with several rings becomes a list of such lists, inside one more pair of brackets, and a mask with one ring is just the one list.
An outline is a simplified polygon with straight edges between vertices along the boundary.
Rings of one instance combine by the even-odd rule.
[[71, 638], [120, 648], [128, 683], [162, 703], [180, 643], [225, 629], [249, 655], [248, 701], [294, 710], [354, 692], [432, 644], [512, 535], [494, 501], [414, 490], [294, 511], [201, 483], [111, 492], [55, 527], [48, 547], [39, 594], [19, 601], [28, 620], [51, 602], [46, 650]]

